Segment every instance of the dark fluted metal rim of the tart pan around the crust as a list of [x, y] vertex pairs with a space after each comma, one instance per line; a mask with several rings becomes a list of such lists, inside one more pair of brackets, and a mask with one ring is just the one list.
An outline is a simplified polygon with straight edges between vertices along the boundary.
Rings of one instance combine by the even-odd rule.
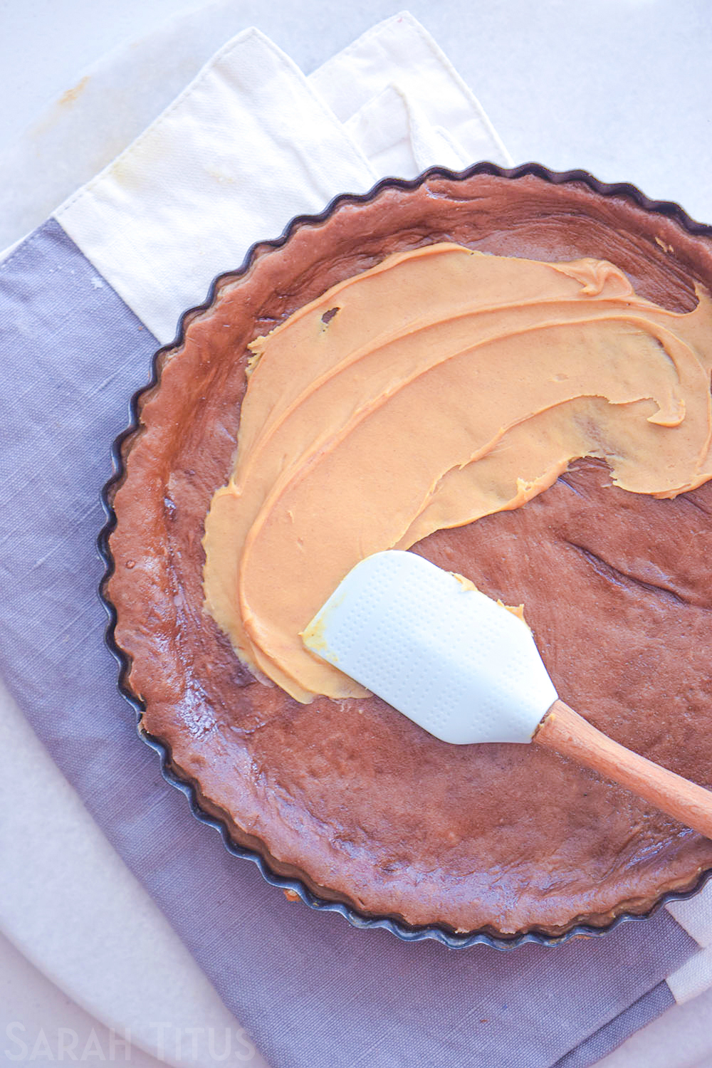
[[114, 562], [109, 547], [109, 537], [116, 525], [116, 516], [113, 511], [114, 493], [125, 475], [125, 461], [130, 450], [133, 436], [140, 428], [140, 409], [144, 394], [153, 390], [160, 379], [161, 366], [168, 354], [179, 347], [185, 339], [185, 331], [195, 316], [205, 312], [216, 300], [221, 288], [237, 279], [241, 278], [250, 269], [256, 254], [263, 254], [273, 249], [279, 249], [289, 239], [291, 234], [301, 226], [315, 226], [323, 223], [332, 213], [344, 204], [365, 204], [375, 200], [383, 190], [413, 190], [430, 178], [443, 178], [446, 180], [462, 180], [477, 174], [494, 175], [502, 178], [517, 179], [525, 175], [536, 176], [553, 185], [565, 183], [577, 183], [587, 186], [591, 191], [602, 197], [622, 197], [634, 202], [646, 211], [658, 213], [662, 216], [675, 220], [682, 229], [692, 235], [712, 237], [712, 226], [703, 225], [692, 220], [682, 208], [671, 202], [651, 201], [645, 197], [637, 188], [628, 183], [604, 184], [599, 182], [586, 171], [575, 170], [566, 172], [553, 172], [538, 163], [525, 163], [512, 169], [503, 169], [494, 163], [480, 162], [475, 166], [455, 173], [443, 168], [430, 168], [418, 177], [412, 180], [399, 178], [384, 178], [379, 182], [369, 192], [365, 194], [344, 194], [336, 197], [317, 216], [299, 216], [291, 220], [280, 237], [271, 241], [260, 241], [254, 245], [248, 252], [241, 267], [218, 276], [211, 283], [206, 301], [193, 309], [188, 310], [180, 318], [178, 332], [175, 341], [170, 345], [162, 346], [154, 356], [153, 373], [151, 380], [141, 387], [132, 396], [130, 402], [130, 423], [127, 428], [116, 438], [112, 446], [112, 460], [114, 473], [107, 482], [101, 493], [101, 502], [107, 516], [106, 524], [100, 531], [97, 539], [99, 554], [105, 563], [105, 575], [99, 586], [99, 596], [107, 610], [109, 622], [106, 630], [107, 644], [115, 657], [118, 664], [118, 690], [123, 696], [133, 707], [137, 717], [137, 729], [139, 736], [148, 744], [160, 759], [161, 773], [165, 781], [177, 789], [181, 790], [188, 799], [191, 812], [194, 817], [203, 823], [219, 831], [224, 846], [234, 857], [251, 860], [257, 865], [265, 880], [275, 888], [280, 888], [292, 899], [299, 898], [313, 909], [338, 912], [353, 927], [370, 928], [382, 927], [390, 930], [398, 939], [407, 942], [421, 941], [423, 939], [436, 939], [450, 948], [461, 948], [465, 946], [486, 944], [497, 949], [512, 949], [526, 943], [536, 943], [545, 946], [560, 945], [572, 938], [601, 937], [607, 931], [618, 927], [621, 923], [632, 920], [644, 920], [653, 915], [665, 902], [680, 900], [696, 894], [707, 880], [712, 876], [712, 868], [702, 870], [691, 883], [681, 890], [668, 891], [661, 895], [654, 905], [645, 912], [620, 912], [608, 924], [599, 926], [586, 923], [575, 924], [561, 933], [549, 933], [533, 928], [527, 931], [518, 932], [512, 936], [495, 934], [487, 930], [475, 930], [460, 933], [443, 926], [410, 926], [402, 920], [387, 915], [370, 915], [359, 912], [351, 906], [338, 901], [319, 897], [302, 880], [291, 876], [283, 876], [275, 873], [266, 859], [256, 849], [243, 846], [234, 841], [231, 836], [225, 821], [211, 815], [202, 803], [196, 786], [185, 776], [181, 776], [179, 769], [174, 765], [169, 747], [159, 738], [148, 734], [142, 726], [142, 713], [144, 705], [141, 698], [131, 690], [128, 685], [129, 658], [118, 646], [115, 640], [116, 611], [112, 604], [108, 593], [108, 582], [114, 570]]

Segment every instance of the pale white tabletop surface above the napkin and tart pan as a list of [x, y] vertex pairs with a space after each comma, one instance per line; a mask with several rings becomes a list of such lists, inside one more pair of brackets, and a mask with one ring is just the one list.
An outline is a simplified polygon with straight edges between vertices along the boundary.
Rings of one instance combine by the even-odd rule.
[[174, 13], [216, 9], [225, 38], [256, 25], [310, 73], [400, 6], [448, 54], [516, 162], [583, 167], [712, 218], [707, 0], [4, 0], [0, 154], [90, 64]]

